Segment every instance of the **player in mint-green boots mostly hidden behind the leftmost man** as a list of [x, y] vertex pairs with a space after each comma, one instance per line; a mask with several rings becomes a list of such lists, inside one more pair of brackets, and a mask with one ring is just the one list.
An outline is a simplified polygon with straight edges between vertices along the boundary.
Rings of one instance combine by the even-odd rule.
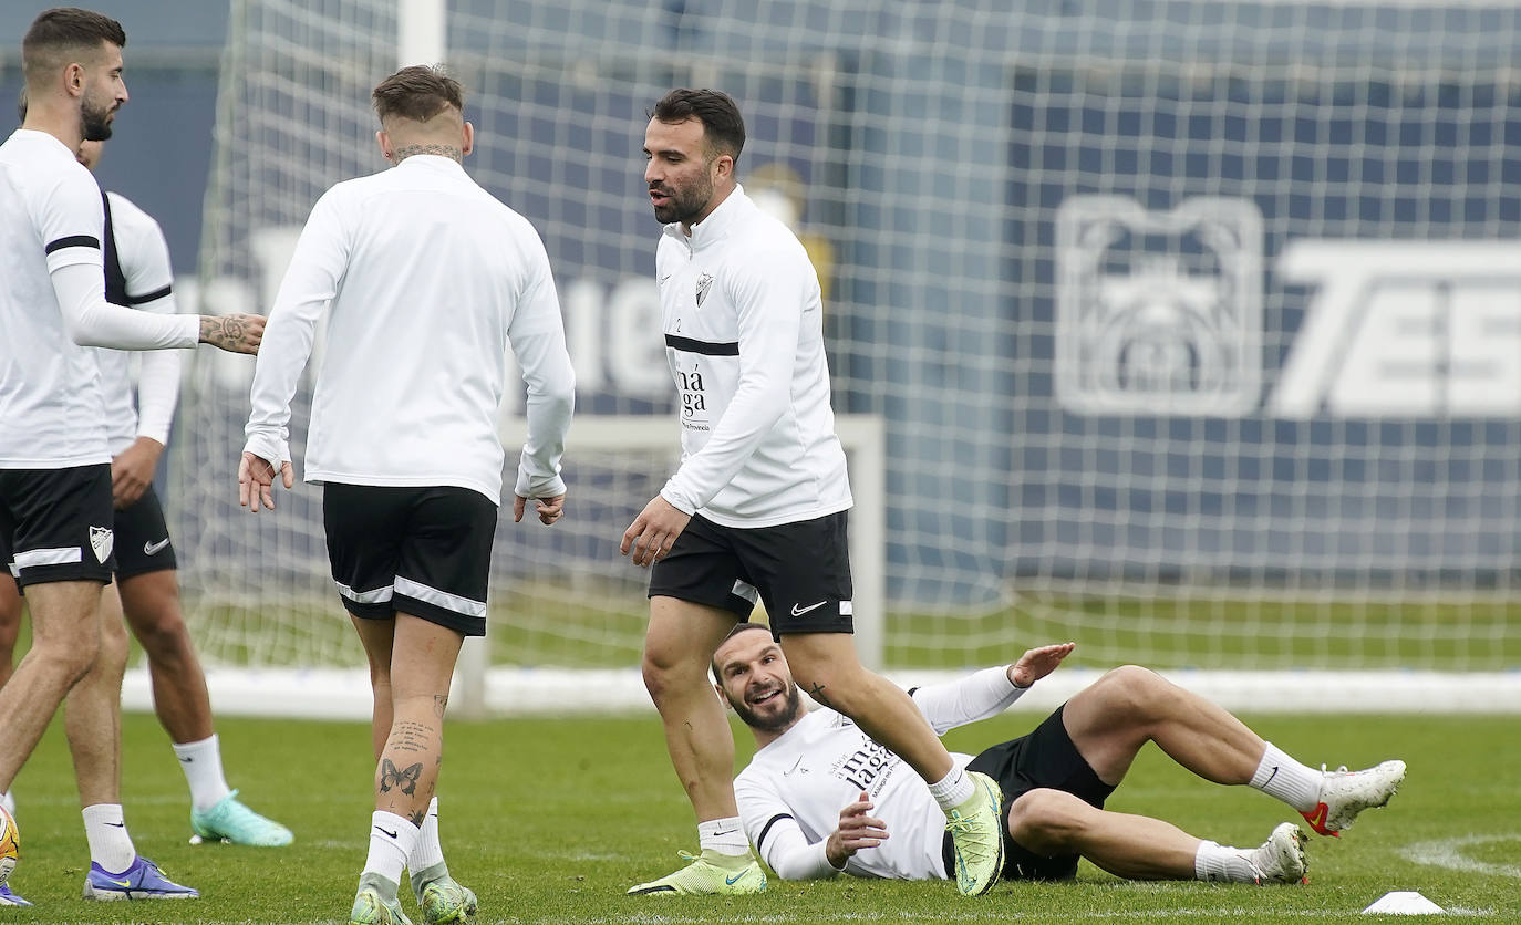
[[[21, 105], [26, 119], [26, 105]], [[103, 141], [87, 140], [78, 160], [90, 170], [100, 161]], [[175, 315], [173, 271], [163, 230], [146, 211], [120, 193], [103, 193], [106, 301], [144, 312]], [[291, 829], [259, 815], [237, 799], [222, 771], [222, 753], [211, 726], [211, 698], [196, 657], [190, 631], [179, 610], [175, 551], [169, 526], [154, 490], [154, 470], [169, 443], [179, 399], [179, 353], [154, 350], [141, 354], [137, 405], [132, 405], [129, 354], [99, 350], [100, 386], [106, 403], [111, 494], [116, 504], [116, 584], [105, 589], [105, 625], [123, 613], [132, 634], [148, 654], [154, 685], [154, 709], [169, 733], [175, 758], [190, 787], [190, 828], [195, 840], [234, 844], [283, 846]], [[9, 539], [0, 536], [0, 561], [11, 561]], [[0, 574], [0, 685], [11, 675], [11, 662], [21, 621], [21, 596], [9, 572]], [[126, 645], [111, 647], [116, 656], [111, 677], [126, 668]], [[116, 682], [117, 685], [120, 682]]]

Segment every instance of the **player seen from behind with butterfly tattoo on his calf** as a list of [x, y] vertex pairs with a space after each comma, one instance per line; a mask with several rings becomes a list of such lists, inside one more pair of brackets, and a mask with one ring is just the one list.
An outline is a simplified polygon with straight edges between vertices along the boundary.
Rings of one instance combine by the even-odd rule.
[[528, 383], [513, 519], [564, 510], [560, 458], [575, 405], [545, 245], [465, 175], [475, 128], [459, 84], [406, 67], [374, 90], [380, 154], [312, 208], [254, 371], [240, 501], [292, 484], [287, 429], [318, 318], [329, 313], [306, 479], [321, 484], [333, 581], [370, 657], [376, 811], [351, 922], [406, 922], [402, 869], [426, 922], [473, 916], [449, 876], [433, 791], [459, 644], [485, 633], [502, 494], [497, 406], [511, 348]]

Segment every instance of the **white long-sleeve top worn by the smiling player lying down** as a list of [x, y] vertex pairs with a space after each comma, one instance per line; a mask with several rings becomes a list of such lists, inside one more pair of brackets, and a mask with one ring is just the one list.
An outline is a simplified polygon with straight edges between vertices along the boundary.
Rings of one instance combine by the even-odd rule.
[[[984, 668], [913, 692], [937, 735], [996, 717], [1028, 688], [1008, 683], [1005, 668]], [[952, 752], [957, 767], [970, 755]], [[815, 709], [754, 753], [735, 777], [735, 799], [745, 835], [782, 879], [818, 879], [841, 873], [829, 864], [824, 843], [840, 826], [840, 811], [865, 791], [872, 815], [887, 823], [888, 838], [852, 855], [844, 873], [882, 879], [945, 879], [941, 841], [946, 817], [914, 768], [827, 707]]]

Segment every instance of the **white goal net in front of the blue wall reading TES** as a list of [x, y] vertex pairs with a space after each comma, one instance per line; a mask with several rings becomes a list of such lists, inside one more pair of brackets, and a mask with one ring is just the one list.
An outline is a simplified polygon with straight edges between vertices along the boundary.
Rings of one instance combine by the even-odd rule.
[[[890, 669], [1065, 639], [1089, 666], [1521, 666], [1512, 5], [444, 15], [467, 169], [555, 266], [595, 415], [576, 431], [672, 415], [646, 110], [678, 85], [739, 102], [739, 180], [826, 286], [835, 408], [885, 428], [882, 526], [858, 542], [885, 561]], [[266, 309], [316, 196], [385, 166], [367, 100], [400, 17], [397, 0], [234, 0], [204, 306]], [[248, 376], [199, 351], [173, 449], [196, 639], [224, 665], [359, 665], [318, 491], [259, 517], [233, 499]], [[643, 577], [616, 542], [674, 447], [672, 431], [572, 453], [566, 520], [502, 525], [473, 657], [637, 663]]]

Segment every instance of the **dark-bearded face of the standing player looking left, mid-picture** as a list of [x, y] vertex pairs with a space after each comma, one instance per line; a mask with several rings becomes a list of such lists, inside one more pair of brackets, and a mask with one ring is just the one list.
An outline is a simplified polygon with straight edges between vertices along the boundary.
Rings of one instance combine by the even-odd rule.
[[715, 192], [733, 178], [735, 158], [707, 143], [701, 119], [649, 120], [645, 129], [645, 186], [656, 219], [691, 228], [718, 205]]

